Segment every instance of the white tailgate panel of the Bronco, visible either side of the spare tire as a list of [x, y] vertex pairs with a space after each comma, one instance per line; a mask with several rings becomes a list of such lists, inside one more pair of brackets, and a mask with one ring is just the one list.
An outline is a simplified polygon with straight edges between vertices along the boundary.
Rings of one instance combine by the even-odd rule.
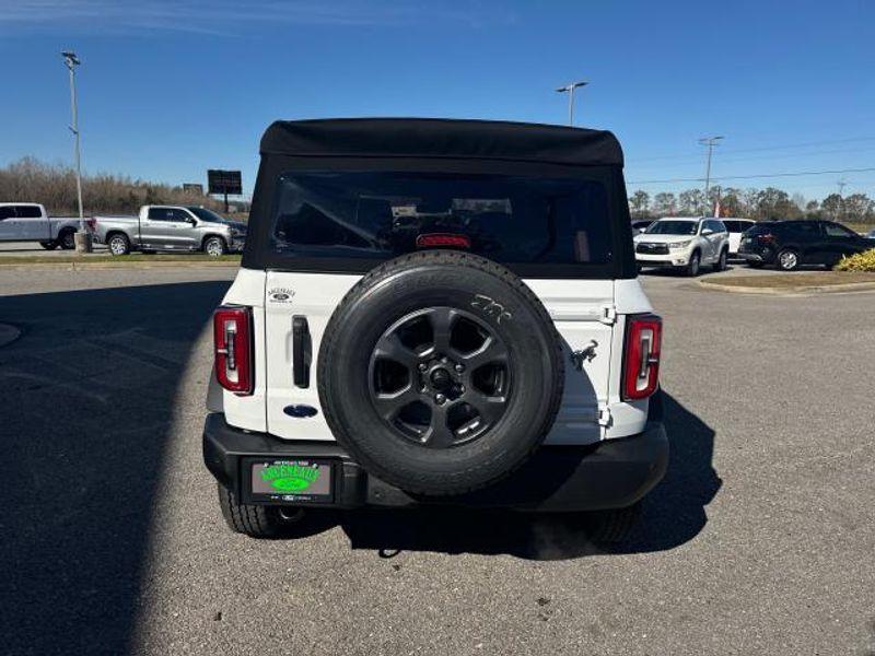
[[[265, 294], [267, 423], [275, 435], [334, 440], [317, 393], [317, 360], [335, 308], [360, 276], [269, 271]], [[598, 441], [607, 424], [616, 313], [610, 280], [526, 280], [562, 339], [565, 388], [548, 441]], [[363, 348], [370, 348], [363, 344]], [[298, 361], [295, 358], [298, 356]], [[311, 409], [315, 415], [308, 415]]]

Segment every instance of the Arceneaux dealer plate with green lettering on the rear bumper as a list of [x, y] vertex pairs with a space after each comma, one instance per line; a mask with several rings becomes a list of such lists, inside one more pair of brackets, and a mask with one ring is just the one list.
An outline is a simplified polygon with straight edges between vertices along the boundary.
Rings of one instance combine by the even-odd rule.
[[330, 503], [334, 499], [331, 460], [270, 458], [248, 460], [249, 501]]

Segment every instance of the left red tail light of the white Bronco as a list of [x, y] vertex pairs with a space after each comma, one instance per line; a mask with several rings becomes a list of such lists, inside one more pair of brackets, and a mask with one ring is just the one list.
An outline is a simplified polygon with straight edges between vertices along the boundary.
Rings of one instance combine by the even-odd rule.
[[248, 307], [222, 306], [212, 317], [215, 377], [238, 396], [253, 393], [253, 330]]

